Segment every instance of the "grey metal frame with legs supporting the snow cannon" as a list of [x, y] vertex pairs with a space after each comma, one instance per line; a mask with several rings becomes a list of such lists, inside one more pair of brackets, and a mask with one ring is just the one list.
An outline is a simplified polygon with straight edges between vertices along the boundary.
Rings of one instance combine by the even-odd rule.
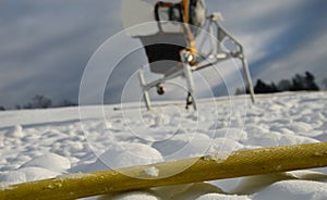
[[[189, 96], [186, 98], [186, 109], [190, 104], [192, 104], [193, 109], [196, 110], [197, 105], [196, 105], [195, 87], [194, 87], [194, 80], [193, 80], [192, 73], [195, 71], [206, 68], [208, 66], [213, 66], [219, 62], [222, 62], [222, 61], [226, 61], [229, 59], [239, 59], [241, 61], [243, 70], [244, 70], [244, 75], [247, 80], [251, 100], [254, 103], [255, 93], [254, 93], [254, 88], [253, 88], [253, 84], [252, 84], [252, 78], [251, 78], [247, 61], [244, 55], [243, 47], [234, 37], [232, 37], [225, 28], [222, 28], [220, 26], [220, 24], [218, 23], [219, 17], [220, 17], [220, 13], [213, 13], [211, 15], [207, 16], [208, 25], [207, 25], [206, 32], [214, 35], [215, 29], [216, 29], [216, 38], [217, 38], [218, 42], [216, 43], [213, 40], [210, 41], [211, 47], [210, 47], [209, 52], [205, 55], [198, 57], [197, 59], [199, 61], [197, 62], [196, 65], [192, 64], [192, 60], [194, 59], [193, 58], [194, 55], [189, 53], [186, 50], [183, 50], [180, 52], [182, 67], [180, 70], [175, 71], [174, 73], [165, 75], [160, 79], [157, 79], [152, 83], [147, 83], [144, 77], [144, 70], [143, 68], [140, 70], [138, 77], [140, 77], [142, 92], [144, 96], [145, 105], [146, 105], [147, 110], [152, 109], [148, 90], [156, 87], [158, 93], [162, 95], [165, 91], [162, 91], [161, 84], [164, 84], [165, 82], [167, 82], [169, 79], [179, 77], [179, 76], [184, 77], [186, 80], [186, 87], [187, 87], [187, 91], [189, 91]], [[204, 40], [202, 41], [199, 49], [203, 48], [203, 46], [205, 43], [205, 39], [206, 38], [204, 38]], [[222, 46], [223, 40], [231, 41], [237, 48], [233, 50], [227, 49], [226, 47]]]

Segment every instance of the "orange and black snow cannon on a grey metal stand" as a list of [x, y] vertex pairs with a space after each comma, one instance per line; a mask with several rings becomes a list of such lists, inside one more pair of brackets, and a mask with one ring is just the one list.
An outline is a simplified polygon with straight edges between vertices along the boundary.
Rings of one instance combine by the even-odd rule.
[[[254, 102], [254, 89], [243, 47], [219, 24], [221, 14], [206, 13], [205, 0], [122, 0], [121, 8], [126, 35], [141, 40], [150, 72], [161, 75], [161, 78], [148, 83], [144, 70], [138, 72], [147, 110], [152, 108], [149, 89], [177, 77], [185, 79], [186, 99], [191, 97], [196, 110], [196, 84], [192, 73], [231, 59], [241, 61]], [[202, 33], [210, 36], [201, 36]]]

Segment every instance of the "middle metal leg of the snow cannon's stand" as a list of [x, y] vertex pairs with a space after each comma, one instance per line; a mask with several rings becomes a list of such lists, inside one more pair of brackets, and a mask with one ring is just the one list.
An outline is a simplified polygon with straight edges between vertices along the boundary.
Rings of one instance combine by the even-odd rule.
[[181, 58], [182, 58], [182, 62], [183, 62], [183, 71], [184, 71], [184, 76], [186, 79], [189, 95], [191, 93], [193, 109], [196, 111], [197, 108], [196, 108], [196, 98], [195, 98], [195, 93], [194, 93], [194, 82], [193, 82], [192, 68], [191, 68], [189, 62], [186, 61], [187, 60], [186, 52], [182, 52], [181, 55], [182, 55]]

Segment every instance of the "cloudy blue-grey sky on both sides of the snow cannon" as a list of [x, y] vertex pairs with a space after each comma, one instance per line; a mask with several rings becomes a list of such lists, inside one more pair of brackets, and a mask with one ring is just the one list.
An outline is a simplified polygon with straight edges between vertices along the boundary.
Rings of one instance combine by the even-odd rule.
[[[88, 60], [122, 29], [120, 3], [1, 0], [0, 105], [24, 104], [37, 93], [77, 101]], [[243, 43], [254, 80], [278, 82], [305, 71], [317, 82], [327, 77], [326, 0], [207, 0], [207, 5], [222, 13], [222, 25]], [[119, 100], [113, 91], [124, 84], [120, 77], [112, 82], [108, 102]]]

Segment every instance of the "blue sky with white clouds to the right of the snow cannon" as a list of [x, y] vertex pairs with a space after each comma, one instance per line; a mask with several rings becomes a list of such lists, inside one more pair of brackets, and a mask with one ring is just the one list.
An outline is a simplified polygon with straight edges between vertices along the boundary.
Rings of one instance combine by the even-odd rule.
[[[311, 71], [326, 77], [324, 0], [215, 1], [243, 43], [255, 79], [279, 80]], [[213, 10], [213, 9], [211, 9]]]

